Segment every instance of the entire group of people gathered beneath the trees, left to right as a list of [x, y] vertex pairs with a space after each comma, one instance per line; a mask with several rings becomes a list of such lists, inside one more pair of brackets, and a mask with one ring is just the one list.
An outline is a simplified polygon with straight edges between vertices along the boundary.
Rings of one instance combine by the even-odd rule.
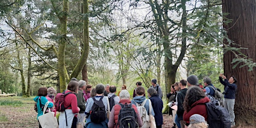
[[[223, 74], [219, 75], [220, 82], [224, 85], [223, 106], [227, 108], [230, 114], [230, 121], [234, 125], [234, 99], [236, 90], [236, 79], [231, 76], [228, 80]], [[204, 87], [198, 83], [196, 75], [189, 75], [187, 79], [181, 79], [179, 82], [171, 85], [171, 92], [167, 94], [168, 101], [172, 105], [177, 105], [176, 114], [173, 117], [173, 127], [207, 127], [207, 111], [205, 103], [209, 102], [207, 94], [214, 97], [214, 91], [209, 77], [203, 79]], [[121, 90], [116, 95], [116, 86], [97, 84], [95, 88], [87, 85], [84, 80], [71, 79], [67, 85], [67, 89], [63, 92], [65, 110], [59, 112], [59, 127], [76, 127], [77, 120], [84, 120], [84, 127], [119, 127], [120, 111], [125, 106], [130, 106], [136, 113], [136, 127], [143, 125], [143, 119], [137, 109], [137, 105], [143, 104], [146, 114], [153, 115], [156, 127], [163, 124], [162, 116], [162, 90], [157, 84], [156, 79], [151, 80], [152, 86], [147, 89], [141, 86], [141, 82], [136, 82], [136, 88], [133, 90], [132, 99], [126, 89], [126, 85], [122, 85]], [[186, 87], [187, 86], [187, 87]], [[53, 87], [40, 87], [37, 96], [33, 99], [38, 108], [38, 116], [42, 115], [43, 105], [47, 102], [49, 108], [54, 108], [54, 95], [56, 90]], [[148, 99], [145, 97], [147, 94]], [[95, 121], [94, 108], [95, 104], [102, 104], [104, 111], [103, 116], [99, 116], [99, 121]], [[172, 108], [169, 114], [172, 115]], [[53, 110], [54, 111], [54, 110]], [[79, 118], [78, 118], [79, 117]], [[78, 118], [78, 119], [77, 119]], [[103, 120], [102, 120], [103, 118]], [[39, 124], [39, 127], [40, 124]]]

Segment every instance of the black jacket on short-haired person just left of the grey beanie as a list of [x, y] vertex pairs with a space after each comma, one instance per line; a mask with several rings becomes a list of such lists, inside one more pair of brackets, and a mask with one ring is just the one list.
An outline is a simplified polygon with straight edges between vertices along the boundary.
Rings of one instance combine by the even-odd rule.
[[185, 99], [185, 95], [186, 95], [186, 91], [187, 91], [187, 88], [183, 88], [181, 90], [178, 91], [177, 93], [177, 116], [178, 116], [178, 119], [179, 120], [183, 120], [183, 113], [184, 113], [184, 109], [183, 109], [183, 101]]

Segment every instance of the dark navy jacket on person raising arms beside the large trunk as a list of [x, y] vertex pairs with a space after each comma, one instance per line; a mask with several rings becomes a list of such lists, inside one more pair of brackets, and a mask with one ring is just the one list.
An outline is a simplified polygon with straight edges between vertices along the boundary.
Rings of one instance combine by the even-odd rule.
[[221, 84], [224, 85], [224, 90], [226, 93], [224, 94], [224, 98], [235, 99], [235, 92], [237, 89], [237, 85], [235, 83], [230, 84], [227, 79], [223, 79], [218, 77]]

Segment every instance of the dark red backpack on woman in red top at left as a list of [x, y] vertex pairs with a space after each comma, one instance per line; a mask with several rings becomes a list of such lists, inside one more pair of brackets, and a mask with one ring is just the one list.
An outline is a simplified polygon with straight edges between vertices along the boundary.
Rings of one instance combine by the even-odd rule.
[[64, 111], [66, 108], [64, 107], [64, 97], [67, 95], [67, 94], [70, 94], [72, 92], [67, 92], [65, 93], [62, 92], [62, 93], [57, 93], [56, 96], [55, 96], [55, 103], [54, 103], [54, 106], [55, 106], [55, 109], [56, 111]]

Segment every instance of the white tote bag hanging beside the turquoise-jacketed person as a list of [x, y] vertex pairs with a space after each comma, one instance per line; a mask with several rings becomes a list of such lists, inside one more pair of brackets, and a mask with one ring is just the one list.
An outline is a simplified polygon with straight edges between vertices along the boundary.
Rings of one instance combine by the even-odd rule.
[[45, 110], [48, 106], [49, 101], [47, 101], [43, 107], [42, 115], [38, 116], [39, 123], [42, 128], [56, 128], [58, 126], [57, 118], [54, 116], [54, 112], [51, 112], [48, 108], [49, 112], [45, 113]]

